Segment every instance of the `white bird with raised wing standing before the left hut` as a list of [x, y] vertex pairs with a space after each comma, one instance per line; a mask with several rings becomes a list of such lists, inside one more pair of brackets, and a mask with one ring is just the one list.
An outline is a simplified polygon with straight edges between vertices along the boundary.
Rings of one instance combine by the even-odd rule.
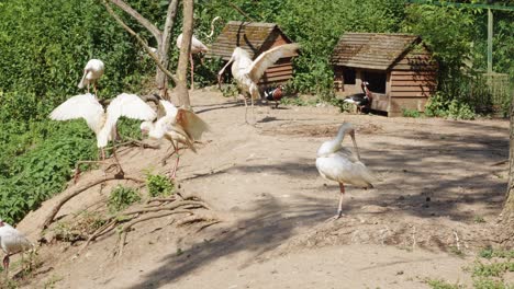
[[259, 86], [257, 83], [262, 77], [264, 72], [268, 67], [275, 63], [278, 59], [290, 56], [299, 48], [295, 43], [284, 44], [281, 46], [273, 47], [262, 54], [260, 54], [255, 60], [252, 60], [249, 54], [241, 47], [236, 47], [228, 62], [217, 72], [219, 80], [223, 74], [226, 67], [232, 63], [232, 76], [237, 82], [237, 85], [243, 91], [243, 97], [245, 100], [245, 122], [247, 120], [248, 104], [246, 102], [245, 94], [249, 94], [252, 102], [252, 115], [254, 115], [254, 100], [260, 99]]

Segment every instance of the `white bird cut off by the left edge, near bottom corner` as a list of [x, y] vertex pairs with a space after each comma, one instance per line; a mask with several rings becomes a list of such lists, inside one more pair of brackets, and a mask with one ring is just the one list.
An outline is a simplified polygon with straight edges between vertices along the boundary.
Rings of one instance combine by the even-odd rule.
[[9, 274], [10, 256], [16, 253], [23, 253], [34, 245], [20, 231], [0, 219], [0, 246], [5, 257], [3, 257], [3, 269]]

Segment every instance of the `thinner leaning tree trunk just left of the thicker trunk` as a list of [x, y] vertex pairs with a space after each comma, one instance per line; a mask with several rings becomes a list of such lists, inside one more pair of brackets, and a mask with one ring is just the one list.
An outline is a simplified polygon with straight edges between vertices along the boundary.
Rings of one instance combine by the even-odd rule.
[[[159, 56], [160, 63], [168, 68], [169, 65], [169, 47], [171, 46], [171, 32], [174, 31], [175, 16], [177, 14], [178, 0], [171, 0], [166, 13], [166, 22], [163, 30], [163, 38], [160, 45], [157, 47], [157, 55]], [[168, 96], [168, 77], [157, 67], [156, 79], [157, 89], [160, 91], [160, 96], [169, 101]]]

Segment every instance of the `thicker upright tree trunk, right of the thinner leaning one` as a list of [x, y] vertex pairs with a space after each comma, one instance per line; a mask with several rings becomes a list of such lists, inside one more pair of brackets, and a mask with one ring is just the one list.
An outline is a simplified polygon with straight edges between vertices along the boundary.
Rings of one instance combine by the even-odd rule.
[[188, 92], [188, 63], [191, 53], [191, 37], [193, 24], [193, 0], [183, 0], [183, 25], [182, 25], [182, 44], [180, 48], [180, 57], [177, 68], [177, 94], [179, 106], [187, 108], [191, 107]]

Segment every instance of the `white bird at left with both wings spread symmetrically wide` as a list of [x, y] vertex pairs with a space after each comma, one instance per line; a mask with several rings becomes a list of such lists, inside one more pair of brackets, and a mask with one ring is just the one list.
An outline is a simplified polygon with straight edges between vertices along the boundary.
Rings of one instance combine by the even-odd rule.
[[97, 147], [105, 159], [104, 148], [109, 140], [116, 137], [116, 122], [121, 116], [139, 120], [153, 120], [157, 114], [139, 96], [122, 93], [107, 107], [98, 102], [91, 93], [75, 95], [57, 106], [49, 115], [54, 120], [83, 118], [97, 136]]

